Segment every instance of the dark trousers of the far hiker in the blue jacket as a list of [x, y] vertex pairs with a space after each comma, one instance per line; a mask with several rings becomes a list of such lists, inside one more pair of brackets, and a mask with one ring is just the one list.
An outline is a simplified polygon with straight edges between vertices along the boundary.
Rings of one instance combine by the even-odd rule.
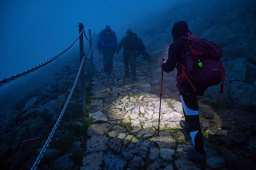
[[115, 53], [115, 47], [103, 47], [103, 66], [108, 68], [108, 73], [111, 73], [113, 69], [113, 58]]

